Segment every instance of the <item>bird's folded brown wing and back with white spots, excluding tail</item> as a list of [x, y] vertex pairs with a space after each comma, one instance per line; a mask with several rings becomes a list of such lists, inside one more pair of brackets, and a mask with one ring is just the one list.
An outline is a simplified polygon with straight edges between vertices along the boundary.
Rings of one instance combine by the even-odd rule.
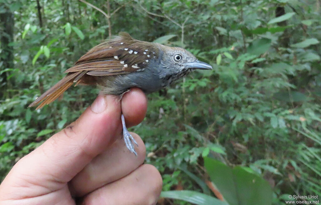
[[101, 76], [141, 71], [158, 54], [156, 44], [120, 32], [116, 38], [91, 48], [65, 73], [88, 71], [88, 75]]

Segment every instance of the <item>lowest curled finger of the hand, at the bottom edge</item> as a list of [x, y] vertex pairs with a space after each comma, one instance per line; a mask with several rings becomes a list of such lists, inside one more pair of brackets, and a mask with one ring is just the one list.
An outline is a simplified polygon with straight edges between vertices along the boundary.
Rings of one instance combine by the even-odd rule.
[[152, 165], [142, 165], [134, 172], [85, 196], [83, 204], [127, 205], [156, 204], [162, 179]]

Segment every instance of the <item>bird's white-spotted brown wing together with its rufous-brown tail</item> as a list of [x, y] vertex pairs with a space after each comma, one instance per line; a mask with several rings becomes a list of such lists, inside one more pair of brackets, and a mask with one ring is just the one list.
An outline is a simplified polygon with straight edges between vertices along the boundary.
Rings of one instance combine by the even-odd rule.
[[[132, 38], [129, 34], [120, 32], [119, 36], [91, 48], [56, 85], [43, 93], [29, 107], [43, 101], [39, 109], [58, 98], [74, 82], [88, 84], [88, 75], [104, 76], [119, 75], [143, 70], [150, 59], [156, 58], [159, 49], [156, 44], [143, 42]], [[88, 76], [89, 77], [89, 76]]]

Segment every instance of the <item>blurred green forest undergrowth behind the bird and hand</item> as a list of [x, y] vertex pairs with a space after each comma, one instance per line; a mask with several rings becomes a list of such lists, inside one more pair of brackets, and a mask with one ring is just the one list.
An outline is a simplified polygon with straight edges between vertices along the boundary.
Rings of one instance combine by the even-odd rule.
[[[227, 168], [271, 187], [267, 204], [289, 194], [321, 197], [320, 0], [87, 3], [103, 13], [83, 0], [0, 1], [0, 179], [81, 115], [97, 90], [77, 86], [41, 110], [28, 105], [100, 40], [126, 31], [213, 66], [148, 95], [146, 118], [131, 128], [146, 144], [146, 163], [162, 174], [162, 195], [176, 198], [159, 204], [201, 204], [177, 200], [196, 193], [238, 204]], [[239, 187], [242, 195], [250, 185]]]

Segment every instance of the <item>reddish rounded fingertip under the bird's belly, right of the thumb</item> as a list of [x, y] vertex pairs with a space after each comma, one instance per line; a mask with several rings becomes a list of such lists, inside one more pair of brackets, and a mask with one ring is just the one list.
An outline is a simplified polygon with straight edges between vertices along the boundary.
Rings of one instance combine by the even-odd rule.
[[131, 88], [129, 92], [124, 94], [121, 108], [126, 119], [126, 127], [137, 125], [143, 121], [146, 115], [147, 98], [142, 90]]

